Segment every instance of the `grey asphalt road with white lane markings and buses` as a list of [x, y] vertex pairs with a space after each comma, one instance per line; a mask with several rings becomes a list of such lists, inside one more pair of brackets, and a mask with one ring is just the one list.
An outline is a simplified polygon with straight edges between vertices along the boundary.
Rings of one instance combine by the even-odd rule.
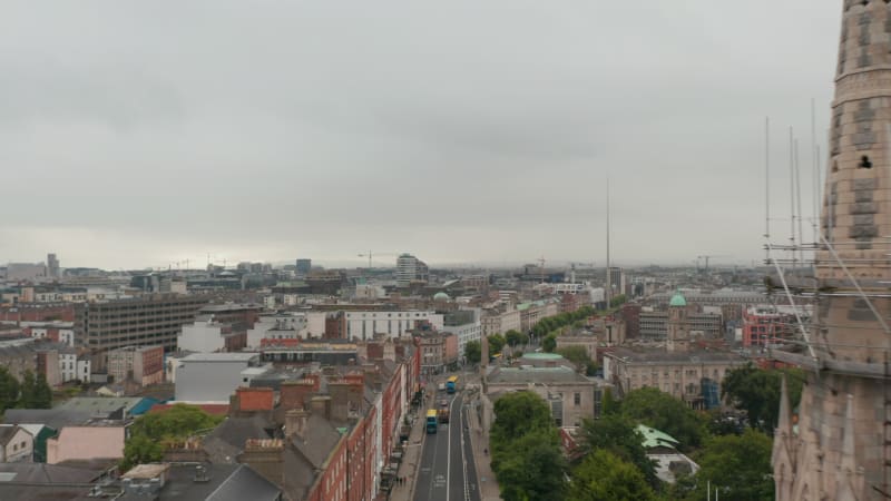
[[[439, 405], [443, 397], [437, 395], [434, 404]], [[437, 433], [425, 435], [414, 488], [415, 501], [480, 500], [467, 430], [467, 410], [460, 393], [452, 397], [449, 410], [449, 423], [440, 424]]]

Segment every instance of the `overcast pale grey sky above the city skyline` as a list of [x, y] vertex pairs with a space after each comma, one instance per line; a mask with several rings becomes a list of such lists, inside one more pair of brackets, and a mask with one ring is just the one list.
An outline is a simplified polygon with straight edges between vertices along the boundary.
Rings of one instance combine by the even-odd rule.
[[811, 217], [841, 10], [4, 1], [0, 263], [603, 265], [607, 177], [614, 262], [751, 263], [766, 116], [777, 233], [790, 126]]

